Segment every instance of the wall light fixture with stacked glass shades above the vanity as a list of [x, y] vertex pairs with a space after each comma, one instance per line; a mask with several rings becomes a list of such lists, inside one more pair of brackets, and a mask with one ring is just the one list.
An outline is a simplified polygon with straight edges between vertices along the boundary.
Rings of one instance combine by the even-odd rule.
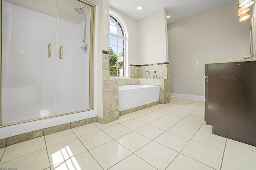
[[239, 21], [245, 21], [248, 20], [251, 15], [247, 14], [247, 12], [250, 10], [250, 8], [248, 8], [249, 6], [251, 6], [254, 3], [254, 1], [252, 0], [239, 0], [239, 4], [238, 6], [238, 16], [239, 16]]

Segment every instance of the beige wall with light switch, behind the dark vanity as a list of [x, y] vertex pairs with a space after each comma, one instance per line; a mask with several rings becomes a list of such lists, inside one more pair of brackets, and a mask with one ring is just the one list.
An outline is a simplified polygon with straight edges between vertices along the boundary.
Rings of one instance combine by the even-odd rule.
[[250, 54], [250, 20], [238, 21], [237, 4], [234, 0], [168, 24], [170, 93], [204, 96], [203, 62]]

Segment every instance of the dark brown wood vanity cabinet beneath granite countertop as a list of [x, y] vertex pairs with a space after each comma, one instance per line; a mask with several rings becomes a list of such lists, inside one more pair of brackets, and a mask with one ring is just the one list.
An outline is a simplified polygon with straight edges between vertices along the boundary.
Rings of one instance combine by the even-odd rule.
[[206, 124], [256, 146], [256, 61], [206, 64], [205, 75]]

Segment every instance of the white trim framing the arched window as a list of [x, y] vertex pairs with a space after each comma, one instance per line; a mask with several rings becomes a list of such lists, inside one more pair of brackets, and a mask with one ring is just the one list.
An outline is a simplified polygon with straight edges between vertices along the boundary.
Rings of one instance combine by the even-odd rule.
[[[113, 33], [108, 33], [109, 36], [113, 36], [113, 37], [118, 37], [120, 39], [124, 39], [126, 42], [124, 43], [124, 55], [125, 55], [125, 64], [124, 64], [124, 77], [112, 77], [110, 76], [110, 78], [114, 79], [114, 78], [130, 78], [130, 55], [129, 55], [129, 47], [130, 47], [130, 32], [128, 29], [128, 25], [126, 24], [126, 21], [124, 20], [124, 18], [122, 18], [122, 16], [120, 14], [118, 14], [118, 12], [116, 12], [113, 9], [109, 9], [109, 14], [111, 16], [113, 16], [114, 18], [116, 18], [121, 25], [123, 26], [123, 30], [124, 30], [124, 37], [120, 36], [120, 35], [116, 35]], [[109, 24], [109, 23], [108, 23]]]

